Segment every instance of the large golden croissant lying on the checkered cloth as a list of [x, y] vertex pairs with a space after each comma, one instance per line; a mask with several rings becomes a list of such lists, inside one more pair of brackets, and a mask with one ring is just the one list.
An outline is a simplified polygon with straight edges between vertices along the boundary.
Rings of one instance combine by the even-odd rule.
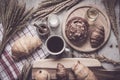
[[41, 44], [37, 36], [23, 36], [13, 43], [12, 55], [15, 59], [30, 55]]

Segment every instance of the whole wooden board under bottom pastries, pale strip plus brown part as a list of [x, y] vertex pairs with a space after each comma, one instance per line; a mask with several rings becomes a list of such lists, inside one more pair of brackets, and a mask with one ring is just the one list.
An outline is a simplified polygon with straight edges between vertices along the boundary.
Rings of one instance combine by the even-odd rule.
[[96, 59], [90, 58], [62, 58], [59, 60], [55, 59], [41, 59], [33, 62], [32, 69], [32, 79], [38, 70], [47, 70], [51, 75], [51, 80], [56, 79], [56, 67], [58, 63], [63, 64], [69, 71], [70, 80], [74, 80], [73, 74], [71, 72], [71, 67], [77, 62], [80, 61], [82, 64], [88, 67], [101, 67], [101, 63]]

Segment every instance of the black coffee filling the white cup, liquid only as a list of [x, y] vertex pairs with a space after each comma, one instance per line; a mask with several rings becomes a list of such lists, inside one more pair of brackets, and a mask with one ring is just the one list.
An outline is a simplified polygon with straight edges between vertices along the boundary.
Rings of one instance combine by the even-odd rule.
[[60, 37], [53, 36], [47, 42], [47, 47], [51, 52], [57, 53], [64, 47], [64, 42]]

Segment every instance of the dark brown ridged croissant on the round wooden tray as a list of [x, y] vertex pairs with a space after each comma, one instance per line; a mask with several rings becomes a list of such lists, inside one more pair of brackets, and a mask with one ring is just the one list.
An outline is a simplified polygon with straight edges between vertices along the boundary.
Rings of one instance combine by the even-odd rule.
[[104, 38], [105, 38], [104, 27], [103, 26], [96, 27], [90, 37], [90, 44], [92, 48], [100, 46], [103, 43]]

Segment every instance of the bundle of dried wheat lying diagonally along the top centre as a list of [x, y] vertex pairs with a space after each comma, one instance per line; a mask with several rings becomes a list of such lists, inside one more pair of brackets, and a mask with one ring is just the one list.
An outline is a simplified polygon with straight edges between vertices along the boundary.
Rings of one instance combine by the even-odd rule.
[[33, 13], [33, 19], [40, 20], [46, 18], [51, 13], [59, 13], [64, 9], [70, 9], [82, 0], [46, 0], [39, 4]]

